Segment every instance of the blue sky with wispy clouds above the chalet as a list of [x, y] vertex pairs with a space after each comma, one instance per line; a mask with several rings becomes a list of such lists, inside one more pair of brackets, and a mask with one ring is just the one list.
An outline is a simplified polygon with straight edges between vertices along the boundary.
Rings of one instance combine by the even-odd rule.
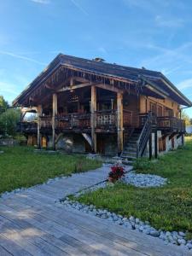
[[190, 0], [0, 0], [0, 95], [61, 52], [158, 70], [192, 101], [191, 13]]

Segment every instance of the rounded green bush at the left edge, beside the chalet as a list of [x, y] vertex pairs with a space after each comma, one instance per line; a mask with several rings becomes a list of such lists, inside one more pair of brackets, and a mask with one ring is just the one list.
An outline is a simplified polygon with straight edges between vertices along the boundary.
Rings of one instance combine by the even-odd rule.
[[16, 125], [20, 121], [20, 109], [8, 108], [0, 114], [0, 134], [15, 136]]

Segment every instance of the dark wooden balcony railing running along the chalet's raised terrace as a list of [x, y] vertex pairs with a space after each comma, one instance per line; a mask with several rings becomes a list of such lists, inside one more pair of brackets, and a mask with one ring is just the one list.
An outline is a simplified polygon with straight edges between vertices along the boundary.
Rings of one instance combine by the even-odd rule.
[[[96, 111], [95, 113], [95, 126], [99, 130], [117, 130], [117, 111], [105, 110]], [[126, 127], [143, 127], [147, 119], [146, 113], [137, 114], [131, 111], [123, 111], [123, 126]], [[171, 131], [171, 132], [185, 132], [185, 122], [182, 119], [175, 117], [156, 117], [152, 114], [152, 127], [158, 130]], [[62, 114], [55, 117], [55, 129], [75, 130], [75, 129], [90, 129], [90, 113], [70, 113]], [[52, 129], [52, 117], [42, 116], [40, 118], [40, 129]], [[17, 125], [17, 131], [21, 132], [37, 132], [38, 122], [20, 122]]]

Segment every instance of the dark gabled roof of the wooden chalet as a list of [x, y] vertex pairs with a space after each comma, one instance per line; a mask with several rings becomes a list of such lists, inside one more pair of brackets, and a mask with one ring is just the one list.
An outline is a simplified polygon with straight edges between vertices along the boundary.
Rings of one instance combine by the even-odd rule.
[[98, 74], [102, 76], [108, 76], [113, 79], [124, 79], [128, 82], [138, 82], [143, 79], [151, 83], [157, 90], [165, 91], [169, 97], [171, 97], [178, 104], [184, 106], [192, 106], [192, 102], [184, 96], [177, 88], [160, 72], [151, 71], [143, 68], [136, 67], [125, 67], [117, 64], [110, 64], [102, 61], [91, 61], [71, 55], [59, 54], [53, 61], [50, 62], [49, 66], [38, 75], [36, 79], [24, 90], [20, 96], [18, 96], [13, 102], [14, 105], [20, 102], [20, 98], [25, 97], [32, 88], [38, 86], [44, 82], [58, 67], [71, 67], [77, 68], [84, 72]]

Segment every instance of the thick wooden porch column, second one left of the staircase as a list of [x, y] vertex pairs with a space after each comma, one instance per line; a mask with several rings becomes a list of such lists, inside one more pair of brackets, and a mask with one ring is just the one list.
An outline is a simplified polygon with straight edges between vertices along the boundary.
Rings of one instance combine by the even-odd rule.
[[91, 127], [91, 138], [92, 138], [92, 150], [96, 153], [96, 86], [91, 86], [91, 102], [90, 102], [90, 127]]

